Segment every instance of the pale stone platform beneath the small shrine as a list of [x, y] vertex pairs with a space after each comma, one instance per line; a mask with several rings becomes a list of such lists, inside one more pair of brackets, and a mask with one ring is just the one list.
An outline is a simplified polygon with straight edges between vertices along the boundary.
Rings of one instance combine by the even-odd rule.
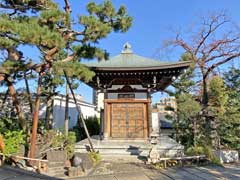
[[[149, 154], [156, 157], [173, 157], [183, 153], [184, 147], [168, 136], [160, 136], [157, 144], [153, 145], [148, 140], [100, 140], [99, 136], [92, 136], [91, 141], [96, 151], [104, 160], [116, 158], [130, 161], [148, 159]], [[75, 144], [75, 152], [86, 153], [89, 143], [84, 139]]]

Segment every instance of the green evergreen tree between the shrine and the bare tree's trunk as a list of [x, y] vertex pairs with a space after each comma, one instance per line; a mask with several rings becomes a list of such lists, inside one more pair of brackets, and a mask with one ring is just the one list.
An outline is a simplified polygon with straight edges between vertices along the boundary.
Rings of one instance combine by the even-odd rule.
[[[185, 53], [181, 56], [180, 61], [189, 61], [189, 59], [191, 59], [191, 55]], [[187, 147], [196, 143], [197, 118], [200, 112], [198, 97], [196, 94], [191, 95], [196, 86], [194, 69], [195, 64], [192, 63], [191, 67], [172, 83], [174, 90], [167, 90], [167, 93], [176, 97], [178, 105], [178, 108], [174, 110], [176, 113], [174, 123], [176, 140]]]

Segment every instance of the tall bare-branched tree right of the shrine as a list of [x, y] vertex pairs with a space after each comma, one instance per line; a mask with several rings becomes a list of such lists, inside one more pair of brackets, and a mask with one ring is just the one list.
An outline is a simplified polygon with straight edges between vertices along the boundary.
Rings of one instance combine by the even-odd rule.
[[215, 13], [201, 18], [199, 26], [193, 27], [190, 38], [177, 32], [168, 46], [178, 46], [190, 55], [199, 69], [202, 85], [202, 105], [208, 105], [208, 78], [214, 70], [240, 56], [240, 31], [225, 13]]

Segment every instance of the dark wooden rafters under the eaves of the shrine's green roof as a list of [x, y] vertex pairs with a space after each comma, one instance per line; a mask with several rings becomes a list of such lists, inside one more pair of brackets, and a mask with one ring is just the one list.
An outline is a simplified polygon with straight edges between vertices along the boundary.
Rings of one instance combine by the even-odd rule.
[[171, 84], [185, 67], [171, 69], [152, 69], [138, 71], [103, 71], [94, 70], [96, 75], [88, 84], [94, 89], [104, 90], [112, 85], [142, 85], [150, 92], [162, 91]]

